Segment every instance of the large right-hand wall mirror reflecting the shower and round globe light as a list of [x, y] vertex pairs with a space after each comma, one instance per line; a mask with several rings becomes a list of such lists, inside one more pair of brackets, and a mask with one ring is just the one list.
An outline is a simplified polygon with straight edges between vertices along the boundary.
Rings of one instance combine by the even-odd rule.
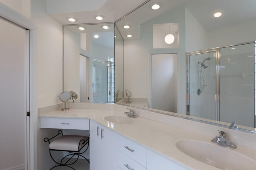
[[[151, 8], [154, 4], [158, 4], [158, 10]], [[125, 94], [117, 103], [163, 113], [175, 112], [179, 116], [221, 125], [236, 121], [238, 128], [255, 132], [255, 7], [255, 0], [150, 0], [118, 20], [116, 26], [124, 39], [124, 89], [129, 90], [131, 96], [128, 103]], [[222, 16], [216, 18], [214, 12], [220, 12]], [[172, 35], [172, 40], [166, 41], [167, 35]], [[232, 47], [237, 51], [227, 52], [229, 45], [247, 42], [252, 44], [244, 48]], [[194, 78], [190, 75], [190, 79], [194, 79], [194, 82], [190, 81], [194, 83], [190, 84], [190, 94], [187, 92], [186, 53], [191, 54], [190, 61], [195, 60], [196, 66]], [[205, 74], [204, 84], [202, 74]], [[228, 81], [212, 84], [210, 79], [216, 80], [219, 75], [223, 78], [218, 80]], [[230, 80], [232, 77], [236, 79]], [[251, 78], [250, 81], [247, 78]], [[200, 95], [197, 94], [199, 80]], [[215, 94], [216, 84], [220, 86], [217, 88], [220, 94]], [[246, 90], [238, 92], [242, 89]], [[210, 90], [213, 90], [213, 98], [206, 96], [204, 100], [212, 102], [212, 105], [195, 102]], [[243, 94], [247, 96], [241, 97]], [[192, 95], [196, 98], [191, 100]], [[190, 104], [194, 102], [193, 107], [188, 106], [189, 99]], [[224, 103], [217, 104], [220, 99]], [[198, 113], [187, 115], [189, 107]], [[214, 115], [200, 116], [207, 110], [214, 110]], [[250, 117], [247, 118], [245, 113], [248, 110]], [[199, 114], [200, 111], [203, 114]], [[218, 112], [220, 116], [216, 115]], [[222, 112], [229, 115], [222, 115]], [[240, 116], [236, 117], [237, 114]], [[244, 121], [245, 117], [252, 122]]]

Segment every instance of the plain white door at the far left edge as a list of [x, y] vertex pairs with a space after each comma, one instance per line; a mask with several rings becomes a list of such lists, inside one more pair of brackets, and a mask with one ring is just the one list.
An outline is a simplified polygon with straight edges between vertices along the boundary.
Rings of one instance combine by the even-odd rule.
[[29, 108], [28, 48], [29, 31], [0, 18], [1, 170], [27, 169], [29, 161], [26, 159], [29, 136], [26, 130], [27, 119], [29, 121], [26, 116]]

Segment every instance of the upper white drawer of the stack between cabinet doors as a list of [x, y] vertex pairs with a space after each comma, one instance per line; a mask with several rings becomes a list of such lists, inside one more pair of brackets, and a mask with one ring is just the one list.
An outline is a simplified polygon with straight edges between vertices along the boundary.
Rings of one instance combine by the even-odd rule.
[[124, 154], [146, 167], [147, 165], [147, 149], [141, 145], [118, 135], [118, 150], [122, 151]]

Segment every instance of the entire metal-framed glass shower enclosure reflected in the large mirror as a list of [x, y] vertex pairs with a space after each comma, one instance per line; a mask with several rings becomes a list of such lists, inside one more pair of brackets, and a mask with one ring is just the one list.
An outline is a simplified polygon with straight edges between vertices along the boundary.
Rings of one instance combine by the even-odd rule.
[[187, 115], [255, 127], [255, 42], [187, 53]]

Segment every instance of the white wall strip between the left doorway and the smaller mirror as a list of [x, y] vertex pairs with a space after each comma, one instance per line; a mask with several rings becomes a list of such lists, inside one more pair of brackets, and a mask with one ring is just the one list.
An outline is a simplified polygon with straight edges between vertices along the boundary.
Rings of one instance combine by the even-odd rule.
[[[36, 26], [34, 53], [35, 76], [32, 77], [35, 85], [36, 108], [61, 103], [58, 95], [62, 92], [62, 25], [46, 14], [45, 0], [31, 1], [31, 21]], [[56, 133], [53, 129], [40, 129], [38, 109], [30, 122], [31, 128], [37, 128], [37, 139], [34, 141], [37, 167], [31, 169], [44, 170], [52, 160], [49, 156], [48, 144], [44, 137], [51, 137]], [[36, 159], [35, 158], [35, 159]], [[36, 165], [36, 164], [35, 164]]]

